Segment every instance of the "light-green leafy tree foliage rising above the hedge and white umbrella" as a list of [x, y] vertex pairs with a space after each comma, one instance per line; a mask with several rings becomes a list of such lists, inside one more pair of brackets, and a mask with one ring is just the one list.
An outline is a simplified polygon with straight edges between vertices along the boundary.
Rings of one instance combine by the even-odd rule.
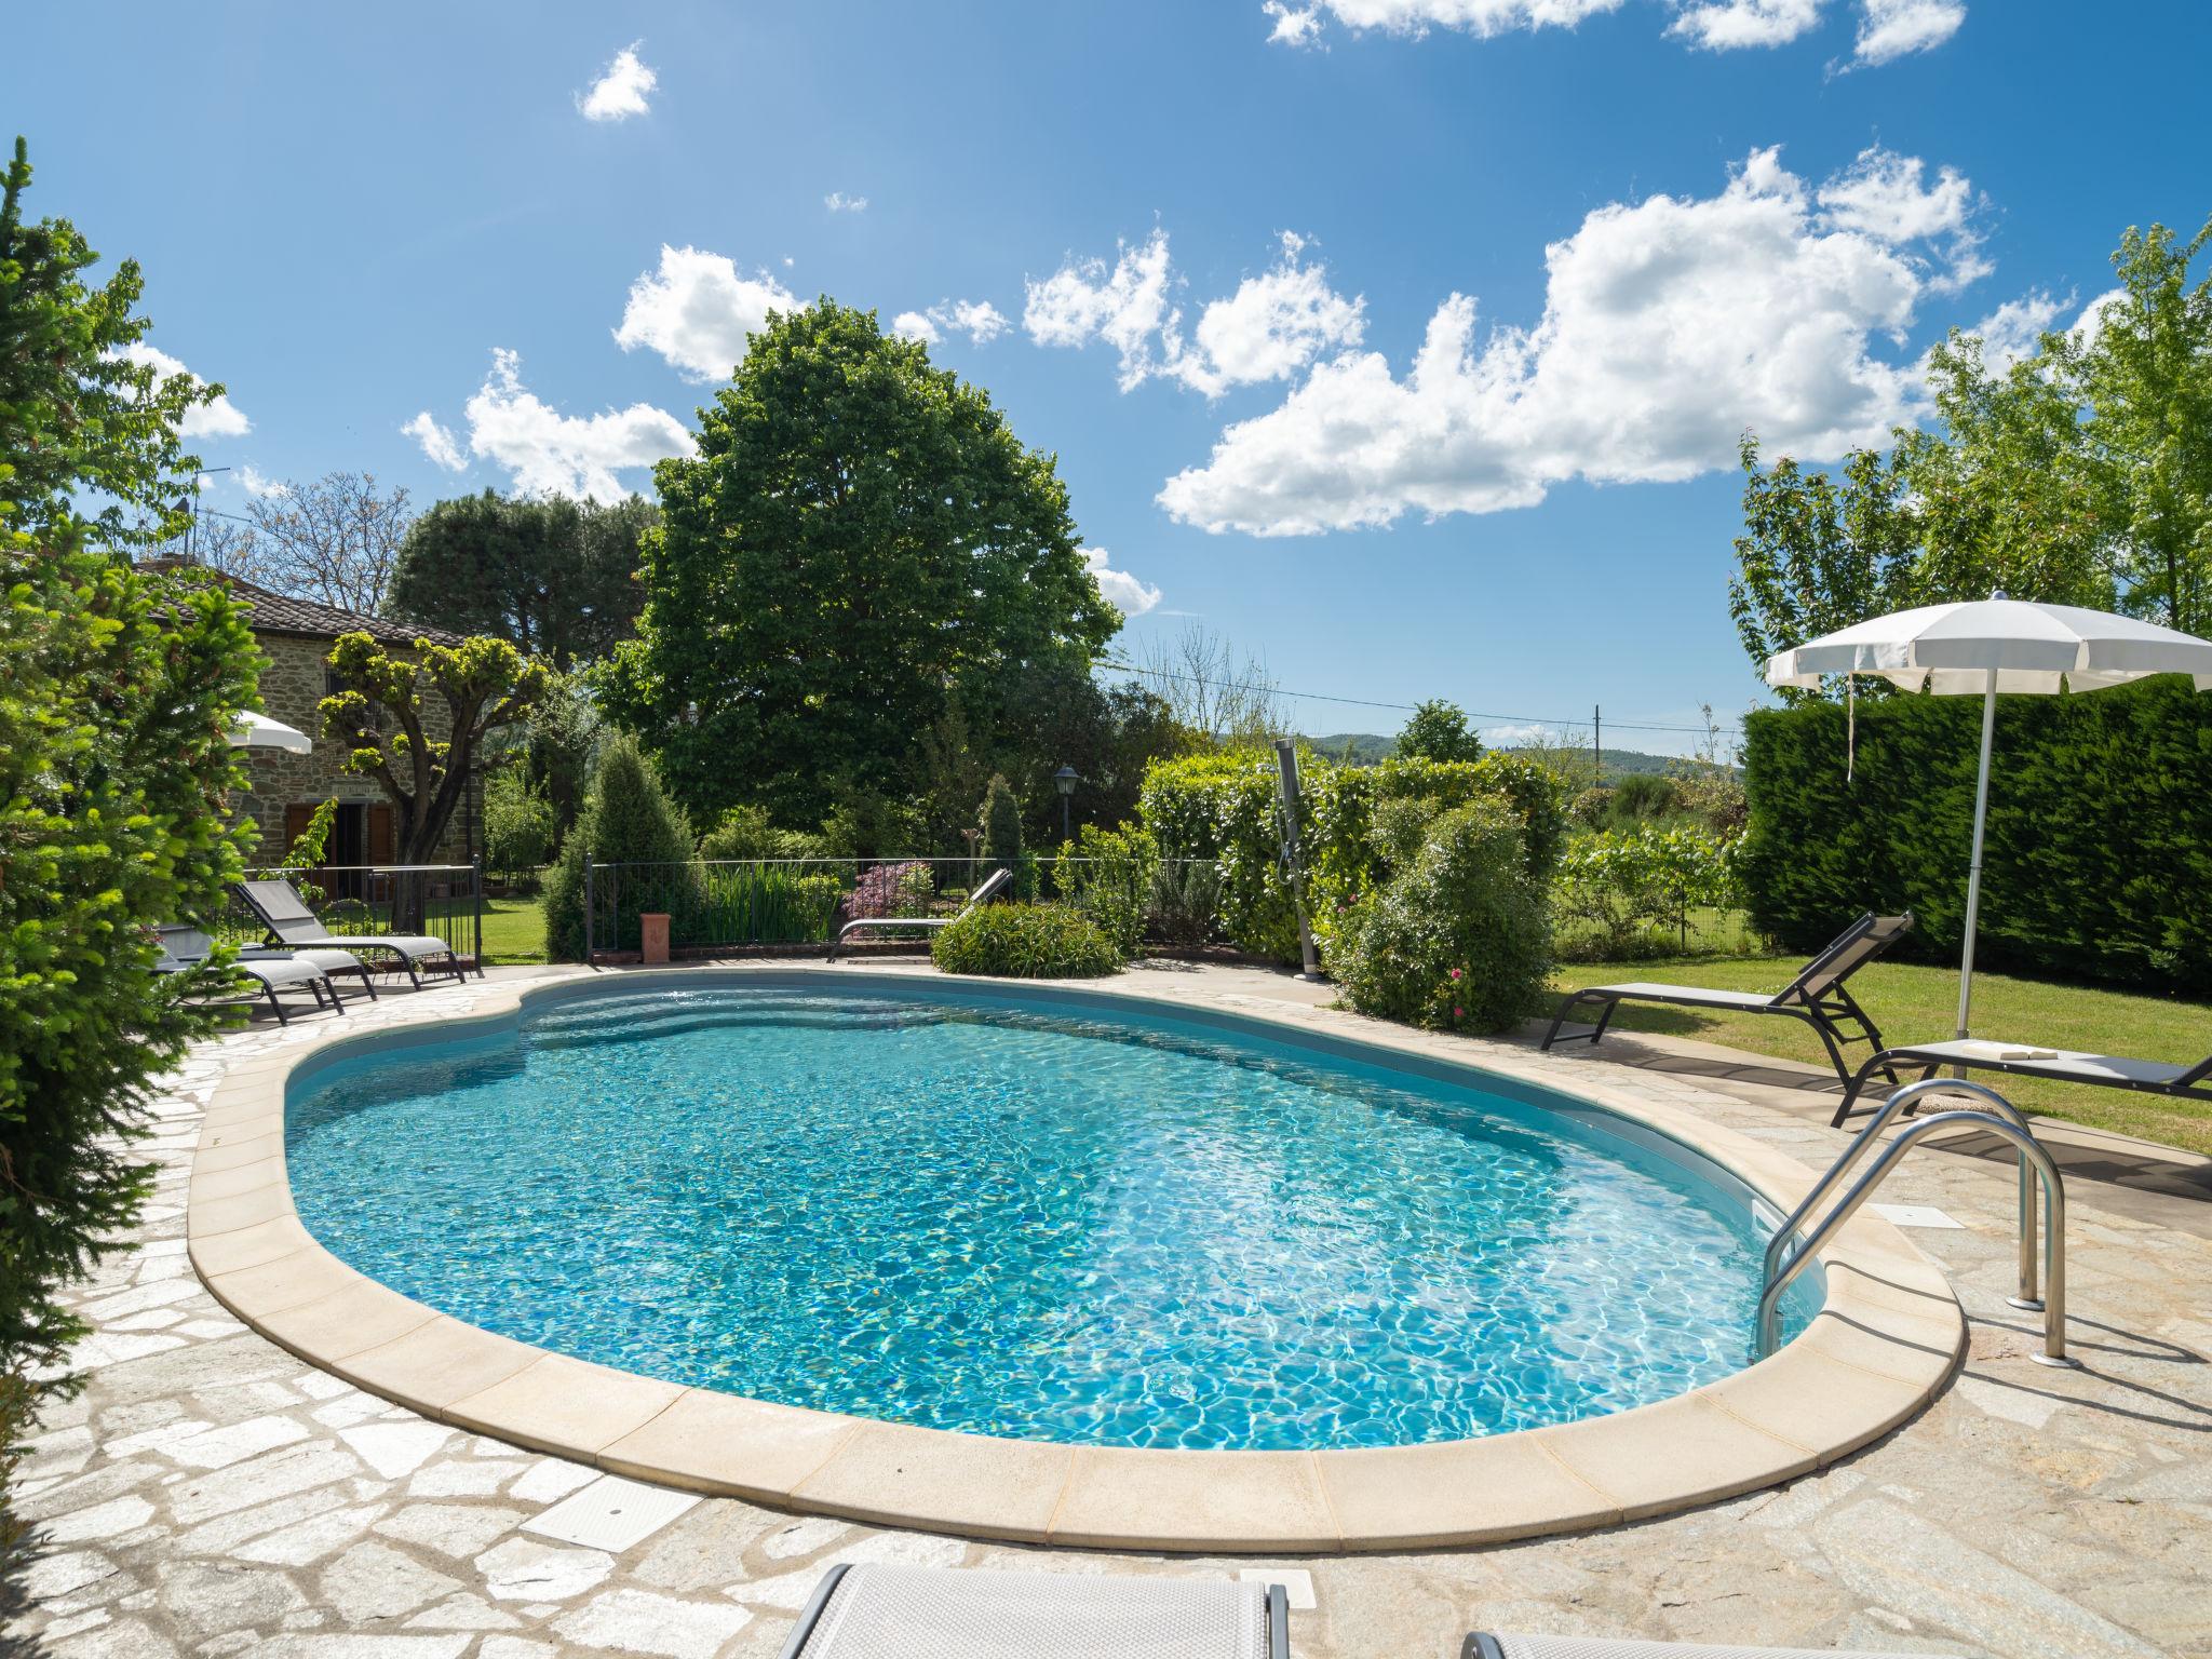
[[2212, 223], [2130, 228], [2119, 288], [2026, 358], [1993, 365], [1953, 332], [1929, 352], [1933, 425], [1840, 480], [1761, 469], [1747, 438], [1730, 604], [1752, 661], [1997, 588], [2212, 626], [2212, 276], [2190, 283], [2208, 246]]

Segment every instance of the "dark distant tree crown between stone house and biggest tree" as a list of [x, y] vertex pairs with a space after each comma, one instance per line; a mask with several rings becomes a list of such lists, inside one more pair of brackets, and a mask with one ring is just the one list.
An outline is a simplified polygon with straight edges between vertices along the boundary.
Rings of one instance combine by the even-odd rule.
[[411, 622], [504, 639], [560, 672], [606, 657], [637, 626], [639, 538], [659, 520], [630, 495], [462, 495], [409, 529], [387, 608]]

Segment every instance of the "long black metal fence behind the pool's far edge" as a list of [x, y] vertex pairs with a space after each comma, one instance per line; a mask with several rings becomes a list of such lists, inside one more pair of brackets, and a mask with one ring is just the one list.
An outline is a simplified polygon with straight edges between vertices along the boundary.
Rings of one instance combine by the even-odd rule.
[[[748, 858], [584, 865], [584, 947], [593, 958], [641, 949], [641, 916], [668, 916], [675, 951], [745, 947], [827, 947], [854, 920], [953, 916], [1000, 865], [991, 858]], [[1068, 858], [1075, 883], [1117, 885], [1117, 900], [1146, 918], [1164, 945], [1214, 940], [1219, 880], [1210, 858], [1164, 858], [1144, 869], [1117, 860]], [[1062, 860], [1013, 860], [1015, 898], [1066, 898]], [[911, 942], [918, 927], [880, 927], [856, 942]]]

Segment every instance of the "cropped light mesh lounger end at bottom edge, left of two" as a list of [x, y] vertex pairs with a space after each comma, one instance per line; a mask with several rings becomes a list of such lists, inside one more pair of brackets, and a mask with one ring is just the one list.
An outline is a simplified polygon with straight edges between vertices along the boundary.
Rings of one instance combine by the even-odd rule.
[[834, 1566], [783, 1659], [1290, 1659], [1281, 1584]]

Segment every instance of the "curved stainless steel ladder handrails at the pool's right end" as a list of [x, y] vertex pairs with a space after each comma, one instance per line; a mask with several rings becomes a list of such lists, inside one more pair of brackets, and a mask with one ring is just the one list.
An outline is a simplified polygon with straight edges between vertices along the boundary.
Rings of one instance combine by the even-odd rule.
[[[1812, 1230], [1812, 1234], [1792, 1252], [1790, 1241], [1805, 1219], [1827, 1199], [1829, 1192], [1849, 1175], [1858, 1161], [1874, 1150], [1876, 1139], [1891, 1119], [1898, 1117], [1907, 1106], [1918, 1102], [1922, 1095], [1936, 1093], [1960, 1093], [1978, 1095], [1989, 1102], [1989, 1110], [1955, 1110], [1936, 1113], [1933, 1117], [1920, 1117], [1905, 1126], [1905, 1130], [1882, 1148], [1882, 1155], [1874, 1161], [1851, 1190], [1843, 1194], [1834, 1210]], [[1774, 1237], [1767, 1241], [1767, 1285], [1759, 1294], [1759, 1358], [1772, 1354], [1781, 1340], [1781, 1301], [1790, 1281], [1796, 1279], [1805, 1263], [1818, 1254], [1834, 1232], [1849, 1221], [1858, 1206], [1874, 1197], [1874, 1190], [1889, 1177], [1898, 1161], [1922, 1139], [1940, 1128], [1982, 1128], [1997, 1139], [2011, 1141], [2020, 1150], [2020, 1294], [2011, 1296], [2013, 1307], [2039, 1310], [2044, 1316], [2044, 1352], [2031, 1358], [2039, 1365], [2066, 1365], [2077, 1367], [2079, 1360], [2066, 1358], [2066, 1181], [2059, 1175], [2059, 1166], [2051, 1161], [2051, 1152], [2044, 1150], [2042, 1141], [2028, 1130], [2028, 1119], [2020, 1115], [2004, 1095], [1986, 1084], [1964, 1082], [1960, 1077], [1929, 1077], [1918, 1084], [1907, 1084], [1896, 1091], [1874, 1119], [1858, 1133], [1858, 1137], [1843, 1148], [1843, 1155], [1827, 1168], [1818, 1181], [1814, 1181], [1812, 1192], [1805, 1201], [1790, 1212]], [[2035, 1285], [2035, 1181], [2044, 1186], [2044, 1285], [2042, 1296], [2037, 1296]], [[1787, 1252], [1787, 1259], [1785, 1259]]]

